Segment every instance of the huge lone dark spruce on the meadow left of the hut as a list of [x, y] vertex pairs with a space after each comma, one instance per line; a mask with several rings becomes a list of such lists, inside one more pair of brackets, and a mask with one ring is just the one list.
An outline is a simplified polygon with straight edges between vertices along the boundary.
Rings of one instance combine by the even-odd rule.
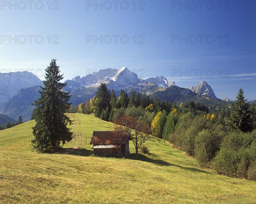
[[52, 59], [49, 66], [45, 69], [45, 81], [41, 97], [35, 101], [35, 127], [33, 135], [35, 139], [32, 143], [39, 151], [54, 149], [55, 147], [71, 141], [72, 132], [67, 125], [72, 121], [64, 113], [69, 109], [70, 95], [61, 91], [67, 83], [60, 83], [63, 74], [60, 74], [56, 60]]

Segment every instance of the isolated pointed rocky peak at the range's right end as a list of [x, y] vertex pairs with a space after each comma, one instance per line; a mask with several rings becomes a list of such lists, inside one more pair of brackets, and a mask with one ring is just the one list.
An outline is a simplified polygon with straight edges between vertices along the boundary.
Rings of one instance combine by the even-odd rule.
[[206, 81], [201, 81], [197, 86], [194, 87], [189, 86], [188, 89], [202, 96], [217, 98], [212, 90], [212, 87]]

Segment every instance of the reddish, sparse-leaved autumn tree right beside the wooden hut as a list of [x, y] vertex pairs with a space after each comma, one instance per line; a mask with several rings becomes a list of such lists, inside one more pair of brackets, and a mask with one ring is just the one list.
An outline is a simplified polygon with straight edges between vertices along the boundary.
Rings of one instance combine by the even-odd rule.
[[138, 149], [145, 141], [156, 138], [150, 134], [151, 131], [148, 124], [144, 123], [143, 120], [128, 115], [122, 115], [116, 121], [114, 131], [121, 132], [122, 135], [127, 135], [131, 138], [135, 147], [136, 156], [138, 156]]

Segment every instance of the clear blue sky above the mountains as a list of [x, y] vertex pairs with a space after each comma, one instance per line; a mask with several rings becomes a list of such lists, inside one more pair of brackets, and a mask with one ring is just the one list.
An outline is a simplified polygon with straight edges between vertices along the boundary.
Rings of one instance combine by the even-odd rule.
[[[185, 88], [205, 80], [221, 99], [235, 98], [240, 87], [248, 100], [256, 99], [253, 0], [132, 0], [116, 1], [116, 8], [114, 1], [97, 1], [102, 8], [95, 1], [34, 1], [31, 9], [23, 2], [25, 9], [20, 1], [11, 7], [1, 1], [1, 72], [45, 69], [56, 58], [65, 80], [126, 66], [140, 77], [163, 75]], [[101, 35], [102, 43], [95, 43]]]

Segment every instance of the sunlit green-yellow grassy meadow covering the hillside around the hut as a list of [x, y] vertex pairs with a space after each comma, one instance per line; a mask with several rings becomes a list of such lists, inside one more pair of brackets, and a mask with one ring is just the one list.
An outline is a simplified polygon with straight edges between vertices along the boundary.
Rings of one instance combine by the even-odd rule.
[[256, 182], [200, 169], [165, 141], [147, 142], [150, 152], [139, 160], [131, 143], [128, 159], [92, 156], [93, 130], [114, 125], [93, 115], [70, 116], [76, 136], [55, 154], [31, 152], [34, 121], [0, 131], [0, 204], [256, 203]]

